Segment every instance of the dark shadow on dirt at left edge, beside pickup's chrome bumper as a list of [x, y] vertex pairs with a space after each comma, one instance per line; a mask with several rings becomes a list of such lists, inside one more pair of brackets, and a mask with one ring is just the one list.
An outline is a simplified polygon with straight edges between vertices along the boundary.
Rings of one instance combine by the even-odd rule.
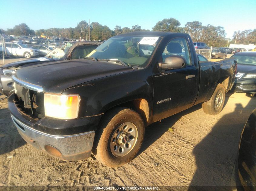
[[13, 125], [7, 108], [0, 109], [0, 155], [9, 153], [26, 144]]

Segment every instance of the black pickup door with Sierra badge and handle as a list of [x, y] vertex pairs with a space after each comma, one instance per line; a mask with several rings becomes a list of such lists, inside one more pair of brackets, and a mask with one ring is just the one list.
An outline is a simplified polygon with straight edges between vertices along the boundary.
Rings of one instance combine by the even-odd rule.
[[159, 71], [153, 76], [153, 121], [191, 107], [198, 93], [199, 72], [191, 59], [187, 40], [185, 38], [170, 40], [159, 62], [164, 63], [169, 56], [183, 57], [186, 65], [179, 69]]

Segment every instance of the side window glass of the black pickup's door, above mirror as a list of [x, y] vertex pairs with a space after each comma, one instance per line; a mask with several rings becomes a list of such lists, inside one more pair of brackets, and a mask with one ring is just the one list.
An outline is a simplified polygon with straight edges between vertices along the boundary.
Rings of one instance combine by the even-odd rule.
[[[188, 43], [185, 38], [175, 38], [168, 43], [162, 53], [163, 62], [165, 62], [167, 57], [173, 55], [182, 56], [186, 60], [187, 65], [192, 65], [190, 62]], [[159, 62], [161, 62], [161, 60], [159, 60]]]

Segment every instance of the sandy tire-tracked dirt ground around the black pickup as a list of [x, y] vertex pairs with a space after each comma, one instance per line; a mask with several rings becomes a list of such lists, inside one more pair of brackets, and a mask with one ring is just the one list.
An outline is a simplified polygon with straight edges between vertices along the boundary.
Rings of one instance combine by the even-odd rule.
[[109, 168], [94, 157], [68, 162], [37, 151], [18, 134], [1, 100], [0, 186], [230, 185], [240, 134], [255, 107], [256, 97], [232, 92], [216, 116], [196, 105], [147, 127], [138, 156]]

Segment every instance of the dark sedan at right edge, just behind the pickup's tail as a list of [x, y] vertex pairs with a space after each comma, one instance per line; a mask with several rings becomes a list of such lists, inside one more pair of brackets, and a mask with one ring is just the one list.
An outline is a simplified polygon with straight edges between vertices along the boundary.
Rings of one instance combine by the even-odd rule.
[[240, 52], [230, 58], [237, 60], [234, 91], [256, 94], [256, 52]]

